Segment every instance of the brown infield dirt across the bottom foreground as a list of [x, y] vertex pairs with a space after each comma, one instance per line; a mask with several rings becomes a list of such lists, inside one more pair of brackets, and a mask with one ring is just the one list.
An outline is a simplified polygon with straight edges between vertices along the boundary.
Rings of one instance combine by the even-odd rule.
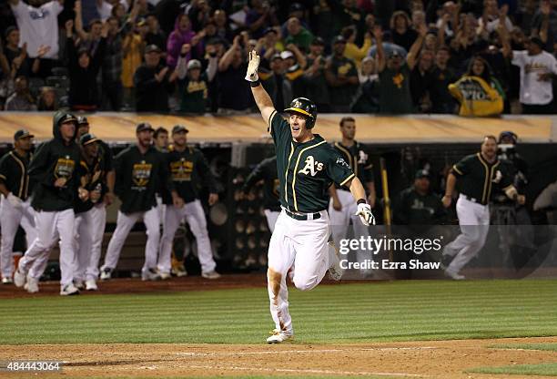
[[[354, 376], [506, 378], [470, 374], [474, 367], [557, 362], [557, 353], [493, 349], [497, 343], [557, 343], [557, 337], [410, 343], [63, 344], [2, 346], [0, 361], [64, 361], [58, 374], [1, 377]], [[542, 376], [511, 375], [514, 379]]]

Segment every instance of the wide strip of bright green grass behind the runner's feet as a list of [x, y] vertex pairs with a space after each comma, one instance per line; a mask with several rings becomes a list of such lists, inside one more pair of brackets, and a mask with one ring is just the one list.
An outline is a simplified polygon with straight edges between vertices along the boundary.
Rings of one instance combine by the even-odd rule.
[[[290, 290], [298, 343], [557, 335], [557, 281], [414, 281]], [[262, 343], [267, 290], [1, 301], [0, 344]], [[5, 317], [5, 315], [9, 315]]]

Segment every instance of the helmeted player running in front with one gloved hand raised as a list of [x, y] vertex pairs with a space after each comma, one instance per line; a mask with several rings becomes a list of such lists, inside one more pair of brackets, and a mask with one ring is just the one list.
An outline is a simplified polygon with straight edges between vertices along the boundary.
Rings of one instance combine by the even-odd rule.
[[289, 314], [286, 274], [294, 263], [293, 282], [302, 291], [321, 282], [325, 272], [339, 279], [339, 257], [329, 244], [328, 189], [335, 182], [347, 186], [357, 199], [358, 214], [364, 225], [374, 222], [366, 192], [349, 164], [319, 134], [313, 134], [317, 107], [311, 100], [292, 100], [289, 120], [282, 118], [258, 79], [259, 56], [249, 53], [246, 80], [268, 123], [277, 149], [281, 212], [268, 247], [268, 297], [275, 330], [268, 343], [282, 343], [294, 331]]

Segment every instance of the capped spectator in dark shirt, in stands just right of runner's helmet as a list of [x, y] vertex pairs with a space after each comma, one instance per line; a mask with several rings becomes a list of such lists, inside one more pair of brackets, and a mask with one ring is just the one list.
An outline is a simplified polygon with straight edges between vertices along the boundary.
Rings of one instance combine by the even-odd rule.
[[346, 56], [346, 40], [343, 36], [333, 39], [333, 54], [325, 65], [325, 77], [329, 84], [330, 107], [334, 113], [349, 112], [352, 98], [358, 89], [356, 64]]

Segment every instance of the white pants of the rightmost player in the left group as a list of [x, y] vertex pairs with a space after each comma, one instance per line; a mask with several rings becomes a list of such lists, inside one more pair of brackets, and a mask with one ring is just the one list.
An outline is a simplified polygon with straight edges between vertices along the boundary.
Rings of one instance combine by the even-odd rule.
[[174, 205], [165, 206], [165, 222], [163, 227], [163, 236], [160, 241], [160, 257], [158, 258], [158, 270], [161, 272], [170, 272], [172, 242], [180, 222], [186, 219], [189, 229], [196, 237], [197, 258], [201, 263], [201, 271], [214, 271], [217, 263], [213, 259], [213, 251], [211, 242], [208, 238], [207, 219], [205, 211], [201, 205], [201, 201], [194, 200], [186, 203], [182, 208]]

